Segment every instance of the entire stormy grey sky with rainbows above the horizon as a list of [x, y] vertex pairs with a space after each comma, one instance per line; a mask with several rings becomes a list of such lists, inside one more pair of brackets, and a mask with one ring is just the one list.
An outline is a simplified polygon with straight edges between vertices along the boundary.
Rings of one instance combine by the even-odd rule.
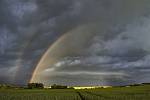
[[149, 0], [0, 0], [0, 83], [150, 82]]

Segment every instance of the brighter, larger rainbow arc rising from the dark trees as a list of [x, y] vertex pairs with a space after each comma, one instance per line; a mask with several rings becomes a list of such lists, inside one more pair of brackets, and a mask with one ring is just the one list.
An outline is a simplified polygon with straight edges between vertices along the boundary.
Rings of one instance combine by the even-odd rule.
[[[91, 38], [93, 36], [93, 30], [95, 31], [95, 26], [98, 26], [97, 24], [86, 24], [86, 25], [80, 25], [77, 28], [64, 33], [62, 36], [60, 36], [60, 38], [58, 38], [52, 45], [49, 46], [49, 48], [46, 50], [46, 52], [43, 54], [43, 56], [41, 57], [41, 59], [39, 60], [39, 62], [37, 63], [37, 65], [35, 66], [35, 69], [32, 73], [31, 79], [29, 82], [35, 82], [37, 81], [37, 75], [39, 74], [39, 72], [41, 72], [45, 67], [47, 67], [47, 65], [51, 65], [54, 64], [59, 57], [64, 56], [65, 52], [68, 51], [68, 48], [57, 48], [60, 44], [62, 44], [62, 41], [65, 41], [64, 43], [67, 43], [69, 39], [69, 41], [77, 41], [77, 37], [83, 37], [83, 39], [81, 39], [81, 43], [79, 43], [80, 45], [84, 45], [84, 43], [86, 43], [85, 41], [87, 41], [89, 38]], [[77, 36], [77, 37], [76, 37]], [[76, 37], [76, 38], [75, 38]], [[71, 38], [75, 38], [75, 40], [72, 40]], [[65, 45], [65, 44], [64, 44]], [[61, 46], [60, 46], [61, 47]], [[57, 48], [57, 49], [56, 49]], [[60, 52], [61, 49], [61, 52]], [[57, 51], [59, 50], [59, 51]], [[72, 48], [71, 48], [72, 50]], [[57, 52], [57, 53], [56, 53]], [[48, 61], [45, 60], [48, 58]]]

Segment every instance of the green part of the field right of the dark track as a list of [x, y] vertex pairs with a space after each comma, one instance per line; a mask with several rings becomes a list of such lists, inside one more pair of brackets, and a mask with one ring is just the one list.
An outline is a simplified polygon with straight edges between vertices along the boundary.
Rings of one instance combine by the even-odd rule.
[[80, 90], [84, 100], [150, 100], [150, 86]]

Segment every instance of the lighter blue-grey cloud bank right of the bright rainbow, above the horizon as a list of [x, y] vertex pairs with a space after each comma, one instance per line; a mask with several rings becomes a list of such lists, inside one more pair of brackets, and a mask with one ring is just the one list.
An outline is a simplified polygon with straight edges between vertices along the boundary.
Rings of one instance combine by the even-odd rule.
[[[88, 53], [90, 53], [89, 56], [64, 58], [54, 64], [52, 68], [46, 69], [44, 73], [46, 74], [46, 71], [47, 73], [56, 71], [60, 76], [62, 75], [61, 72], [66, 75], [82, 76], [84, 74], [95, 74], [95, 77], [99, 78], [103, 76], [101, 72], [106, 72], [103, 80], [107, 80], [107, 84], [149, 82], [150, 79], [144, 77], [150, 75], [150, 45], [149, 38], [147, 38], [150, 35], [149, 21], [150, 19], [148, 18], [142, 18], [142, 24], [133, 23], [109, 40], [100, 39], [102, 35], [95, 36], [90, 47], [87, 48]], [[99, 72], [99, 75], [97, 72]], [[112, 72], [116, 72], [113, 73], [115, 74], [114, 76]], [[125, 75], [119, 75], [122, 78], [117, 78], [118, 75], [116, 74], [118, 73], [125, 73]], [[126, 74], [128, 75], [127, 78]], [[111, 76], [107, 78], [105, 75]]]

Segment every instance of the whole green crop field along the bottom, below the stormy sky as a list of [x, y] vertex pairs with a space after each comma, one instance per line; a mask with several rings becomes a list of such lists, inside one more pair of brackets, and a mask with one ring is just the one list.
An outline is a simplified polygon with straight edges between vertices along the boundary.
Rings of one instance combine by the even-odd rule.
[[150, 100], [150, 85], [107, 89], [1, 89], [0, 100]]

